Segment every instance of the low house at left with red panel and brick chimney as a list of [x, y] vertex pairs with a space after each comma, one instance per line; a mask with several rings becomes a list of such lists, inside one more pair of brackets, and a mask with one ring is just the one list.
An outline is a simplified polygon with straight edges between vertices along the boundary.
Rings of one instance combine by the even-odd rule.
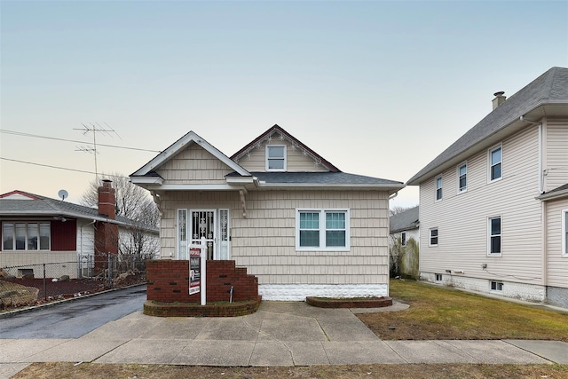
[[[114, 188], [99, 187], [99, 208], [92, 209], [39, 194], [12, 191], [0, 194], [0, 268], [14, 276], [83, 276], [107, 254], [117, 254], [132, 235], [144, 236], [142, 255], [157, 246], [158, 228], [114, 215]], [[154, 240], [154, 248], [152, 247]], [[53, 265], [60, 264], [60, 265]]]

